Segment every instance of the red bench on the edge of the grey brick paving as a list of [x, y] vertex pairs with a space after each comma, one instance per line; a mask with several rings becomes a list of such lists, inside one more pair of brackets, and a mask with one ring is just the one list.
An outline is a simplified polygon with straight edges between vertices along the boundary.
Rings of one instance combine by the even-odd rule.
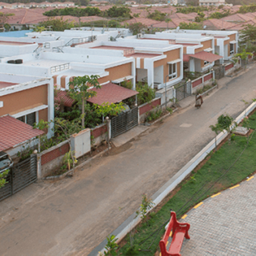
[[[168, 224], [168, 228], [166, 229], [164, 238], [162, 238], [159, 243], [162, 256], [181, 256], [180, 251], [184, 236], [185, 238], [190, 239], [189, 228], [190, 224], [177, 222], [175, 212], [170, 213], [170, 222]], [[171, 235], [170, 232], [172, 232]], [[167, 251], [166, 243], [169, 236], [172, 236], [172, 242], [170, 243], [170, 248]]]

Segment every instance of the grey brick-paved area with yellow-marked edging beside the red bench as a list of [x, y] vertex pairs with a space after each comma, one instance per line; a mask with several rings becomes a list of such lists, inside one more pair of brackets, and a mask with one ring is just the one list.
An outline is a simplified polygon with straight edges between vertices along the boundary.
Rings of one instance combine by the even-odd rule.
[[191, 210], [191, 239], [184, 241], [183, 256], [256, 255], [256, 178], [209, 197]]

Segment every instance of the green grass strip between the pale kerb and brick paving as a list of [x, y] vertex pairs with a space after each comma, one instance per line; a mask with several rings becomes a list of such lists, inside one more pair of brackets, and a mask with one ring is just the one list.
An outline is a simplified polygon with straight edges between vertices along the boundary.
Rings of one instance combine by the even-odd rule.
[[[251, 115], [249, 120], [251, 127], [256, 129], [256, 113]], [[148, 238], [150, 234], [160, 228], [160, 226], [170, 218], [170, 209], [174, 212], [178, 212], [201, 187], [204, 186], [203, 189], [195, 195], [195, 198], [192, 199], [183, 210], [178, 212], [178, 218], [181, 218], [185, 212], [188, 212], [188, 210], [193, 207], [193, 205], [199, 203], [199, 201], [202, 201], [210, 195], [214, 195], [218, 191], [232, 187], [232, 185], [243, 181], [249, 174], [253, 173], [256, 169], [256, 132], [252, 133], [252, 135], [246, 149], [247, 137], [235, 135], [234, 139], [232, 141], [226, 141], [218, 152], [212, 153], [210, 160], [208, 160], [201, 169], [197, 170], [197, 172], [191, 172], [190, 179], [183, 181], [181, 185], [179, 185], [181, 189], [157, 213], [150, 214], [148, 224], [144, 222], [137, 226], [134, 235], [134, 245], [139, 245], [139, 243]], [[245, 151], [243, 152], [244, 149]], [[241, 152], [243, 152], [241, 158], [234, 164], [234, 161]], [[234, 164], [234, 166], [232, 166], [232, 164]], [[232, 166], [232, 168], [230, 168], [230, 166]], [[230, 168], [230, 170], [224, 174], [228, 168]], [[210, 189], [222, 174], [224, 174], [224, 176]], [[208, 189], [210, 190], [207, 191]], [[140, 251], [137, 251], [136, 255], [154, 255], [154, 253], [159, 250], [158, 244], [161, 236], [164, 234], [164, 226], [160, 232], [152, 234], [145, 243], [139, 245], [138, 248]], [[129, 255], [127, 254], [127, 250], [130, 247], [129, 234], [127, 234], [125, 240], [127, 243], [119, 250], [119, 255]], [[152, 246], [150, 247], [151, 244]], [[135, 253], [133, 252], [131, 255], [135, 255]]]

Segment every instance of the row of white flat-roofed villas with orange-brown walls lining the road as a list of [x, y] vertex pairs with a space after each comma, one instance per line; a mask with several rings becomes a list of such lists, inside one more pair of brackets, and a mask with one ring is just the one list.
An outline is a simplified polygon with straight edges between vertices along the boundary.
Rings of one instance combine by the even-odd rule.
[[124, 100], [134, 92], [119, 93], [125, 80], [133, 90], [136, 82], [148, 82], [160, 92], [183, 80], [185, 65], [191, 72], [210, 71], [215, 61], [232, 58], [238, 49], [236, 31], [168, 30], [132, 36], [127, 29], [84, 28], [27, 35], [0, 38], [0, 122], [5, 115], [28, 125], [53, 120], [54, 86], [64, 92], [76, 76], [98, 75], [104, 102], [113, 91]]

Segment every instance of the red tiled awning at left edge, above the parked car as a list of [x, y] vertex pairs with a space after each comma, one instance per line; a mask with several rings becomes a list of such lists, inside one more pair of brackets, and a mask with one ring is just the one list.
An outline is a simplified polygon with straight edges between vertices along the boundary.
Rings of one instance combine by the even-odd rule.
[[32, 126], [14, 117], [0, 117], [0, 151], [14, 148], [18, 144], [43, 133], [44, 131], [33, 129]]

